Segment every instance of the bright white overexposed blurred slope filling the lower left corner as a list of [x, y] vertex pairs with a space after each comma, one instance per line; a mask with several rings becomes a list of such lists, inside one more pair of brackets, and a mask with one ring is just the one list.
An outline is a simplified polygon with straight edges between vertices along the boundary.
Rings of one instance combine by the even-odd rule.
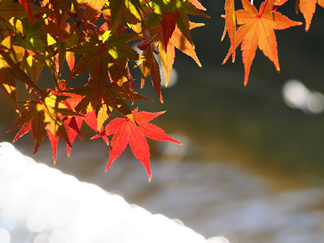
[[227, 243], [0, 143], [0, 242]]

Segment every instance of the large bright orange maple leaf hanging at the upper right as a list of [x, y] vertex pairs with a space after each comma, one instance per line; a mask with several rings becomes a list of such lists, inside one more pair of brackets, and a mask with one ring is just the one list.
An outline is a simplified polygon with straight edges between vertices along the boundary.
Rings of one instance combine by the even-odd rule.
[[[247, 85], [250, 69], [259, 48], [263, 54], [274, 63], [280, 72], [277, 40], [274, 30], [283, 30], [292, 26], [301, 25], [301, 22], [293, 21], [277, 11], [273, 11], [274, 0], [266, 0], [260, 5], [259, 11], [248, 0], [242, 0], [244, 9], [236, 11], [237, 23], [241, 25], [236, 31], [235, 49], [241, 45], [244, 64], [244, 85]], [[233, 55], [230, 48], [223, 64]]]

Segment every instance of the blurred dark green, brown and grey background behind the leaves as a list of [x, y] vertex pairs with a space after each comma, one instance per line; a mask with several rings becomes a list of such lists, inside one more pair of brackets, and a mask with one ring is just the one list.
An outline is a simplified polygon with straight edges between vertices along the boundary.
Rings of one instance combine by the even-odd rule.
[[[152, 213], [179, 218], [206, 237], [324, 242], [324, 9], [317, 7], [308, 33], [304, 26], [277, 31], [281, 73], [257, 51], [244, 87], [239, 51], [235, 64], [221, 65], [229, 47], [228, 39], [220, 42], [224, 1], [203, 4], [212, 18], [193, 18], [207, 25], [192, 31], [203, 67], [178, 52], [174, 83], [163, 89], [165, 103], [147, 82], [142, 94], [155, 102], [135, 104], [167, 110], [154, 123], [184, 146], [150, 143], [150, 183], [129, 151], [105, 174], [109, 150], [86, 136], [70, 158], [61, 144], [55, 167]], [[294, 1], [280, 10], [303, 21]], [[15, 132], [5, 131], [17, 116], [4, 93], [0, 109], [1, 141], [12, 141]], [[15, 146], [31, 155], [31, 134]], [[50, 151], [42, 144], [35, 159], [53, 166]]]

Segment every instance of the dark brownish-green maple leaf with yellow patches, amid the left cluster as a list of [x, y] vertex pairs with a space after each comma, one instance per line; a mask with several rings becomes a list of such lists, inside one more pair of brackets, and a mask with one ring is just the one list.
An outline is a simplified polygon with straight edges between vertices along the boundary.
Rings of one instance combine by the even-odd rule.
[[107, 83], [108, 72], [111, 82], [118, 82], [120, 85], [126, 82], [127, 62], [138, 59], [137, 52], [126, 44], [132, 37], [132, 35], [112, 35], [111, 31], [105, 31], [100, 38], [93, 37], [90, 42], [67, 49], [81, 56], [66, 82], [86, 71], [91, 71], [98, 90]]

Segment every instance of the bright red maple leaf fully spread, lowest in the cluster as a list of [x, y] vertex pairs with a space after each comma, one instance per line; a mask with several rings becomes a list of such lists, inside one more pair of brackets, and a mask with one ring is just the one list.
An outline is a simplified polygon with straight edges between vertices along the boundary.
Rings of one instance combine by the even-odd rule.
[[161, 128], [149, 123], [163, 113], [138, 112], [138, 108], [136, 108], [132, 111], [132, 119], [128, 117], [115, 118], [105, 127], [106, 136], [114, 134], [111, 139], [106, 172], [129, 144], [134, 156], [144, 165], [148, 178], [151, 180], [150, 149], [145, 137], [182, 145], [182, 143], [167, 135]]

